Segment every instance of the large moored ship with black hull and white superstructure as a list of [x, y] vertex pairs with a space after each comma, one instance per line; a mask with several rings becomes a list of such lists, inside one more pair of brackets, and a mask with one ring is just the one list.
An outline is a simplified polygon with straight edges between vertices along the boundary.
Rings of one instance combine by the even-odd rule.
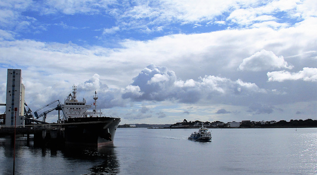
[[92, 107], [86, 104], [86, 99], [78, 101], [76, 98], [77, 87], [73, 86], [73, 94], [69, 94], [61, 104], [64, 121], [60, 121], [64, 126], [64, 139], [66, 145], [84, 145], [103, 147], [113, 143], [115, 131], [120, 123], [118, 117], [102, 116], [101, 111], [97, 111], [97, 92], [93, 111], [88, 111]]

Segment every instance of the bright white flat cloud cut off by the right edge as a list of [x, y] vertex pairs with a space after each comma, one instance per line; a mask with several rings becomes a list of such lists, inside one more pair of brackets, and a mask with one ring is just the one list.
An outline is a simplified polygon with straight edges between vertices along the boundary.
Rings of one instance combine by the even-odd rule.
[[268, 81], [283, 82], [286, 80], [303, 80], [307, 82], [317, 82], [317, 68], [304, 67], [298, 73], [287, 71], [275, 71], [267, 73]]

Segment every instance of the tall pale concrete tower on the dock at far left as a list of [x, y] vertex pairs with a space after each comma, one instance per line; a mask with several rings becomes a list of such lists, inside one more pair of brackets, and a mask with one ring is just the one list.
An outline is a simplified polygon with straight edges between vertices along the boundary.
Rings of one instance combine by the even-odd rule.
[[[8, 69], [6, 80], [5, 126], [24, 125], [24, 92], [21, 69]], [[17, 109], [16, 113], [14, 108]]]

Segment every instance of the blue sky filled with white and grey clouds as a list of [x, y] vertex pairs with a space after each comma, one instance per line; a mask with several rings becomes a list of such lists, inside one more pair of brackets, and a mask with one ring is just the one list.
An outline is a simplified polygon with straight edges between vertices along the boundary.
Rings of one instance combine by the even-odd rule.
[[33, 112], [75, 85], [121, 124], [317, 120], [316, 31], [316, 0], [1, 0], [0, 103], [21, 69]]

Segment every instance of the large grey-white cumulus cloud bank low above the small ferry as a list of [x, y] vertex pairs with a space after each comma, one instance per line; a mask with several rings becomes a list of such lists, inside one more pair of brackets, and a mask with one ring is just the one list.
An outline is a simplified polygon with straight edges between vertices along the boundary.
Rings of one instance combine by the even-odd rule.
[[178, 80], [173, 71], [151, 64], [141, 71], [123, 92], [124, 99], [130, 98], [135, 101], [177, 100], [183, 103], [196, 103], [200, 100], [212, 101], [214, 97], [219, 96], [250, 96], [254, 93], [266, 93], [266, 90], [240, 79], [232, 81], [217, 76], [206, 75], [197, 81]]

